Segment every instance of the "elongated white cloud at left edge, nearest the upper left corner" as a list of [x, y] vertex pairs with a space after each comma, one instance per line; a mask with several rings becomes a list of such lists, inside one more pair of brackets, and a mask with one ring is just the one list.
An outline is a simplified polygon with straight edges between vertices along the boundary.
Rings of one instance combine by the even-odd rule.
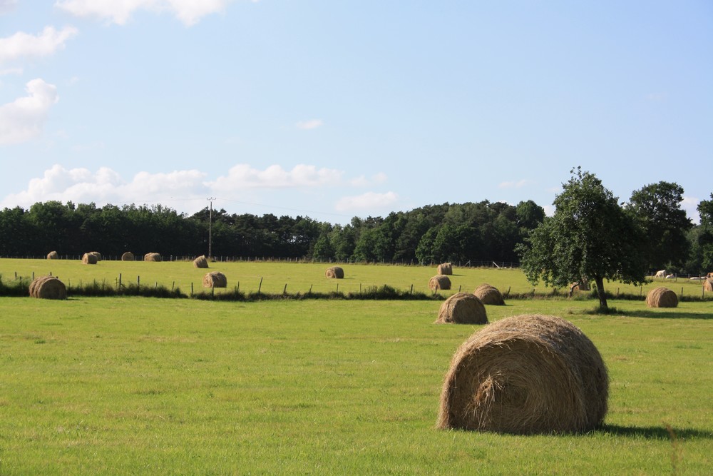
[[12, 36], [0, 38], [0, 64], [26, 57], [51, 55], [63, 49], [66, 41], [77, 33], [78, 30], [73, 26], [65, 26], [59, 31], [53, 26], [46, 26], [37, 35], [19, 31]]

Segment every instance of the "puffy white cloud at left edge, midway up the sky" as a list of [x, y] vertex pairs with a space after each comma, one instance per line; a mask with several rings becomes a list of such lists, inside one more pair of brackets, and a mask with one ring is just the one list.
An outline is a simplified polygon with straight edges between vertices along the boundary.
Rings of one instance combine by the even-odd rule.
[[49, 109], [59, 100], [57, 88], [41, 79], [29, 81], [25, 89], [28, 96], [0, 106], [0, 145], [39, 136]]

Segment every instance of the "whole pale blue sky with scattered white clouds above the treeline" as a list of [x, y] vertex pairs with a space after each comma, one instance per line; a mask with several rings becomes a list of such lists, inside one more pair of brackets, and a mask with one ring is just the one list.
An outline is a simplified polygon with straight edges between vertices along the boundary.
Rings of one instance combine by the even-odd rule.
[[713, 192], [713, 3], [0, 0], [0, 207]]

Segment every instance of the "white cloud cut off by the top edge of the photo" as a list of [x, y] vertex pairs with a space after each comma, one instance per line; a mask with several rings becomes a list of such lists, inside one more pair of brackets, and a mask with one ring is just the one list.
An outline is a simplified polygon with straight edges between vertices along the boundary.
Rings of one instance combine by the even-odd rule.
[[138, 10], [169, 11], [183, 24], [194, 25], [206, 15], [225, 11], [232, 0], [58, 0], [60, 9], [75, 16], [91, 16], [118, 25], [125, 24]]

